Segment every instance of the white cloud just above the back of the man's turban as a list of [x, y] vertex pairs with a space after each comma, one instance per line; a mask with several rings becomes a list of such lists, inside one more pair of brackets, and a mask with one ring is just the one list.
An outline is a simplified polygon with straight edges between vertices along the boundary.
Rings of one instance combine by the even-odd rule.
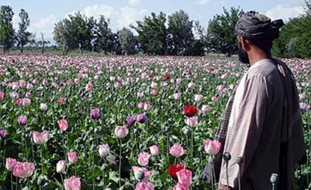
[[276, 7], [268, 10], [266, 15], [269, 16], [272, 20], [282, 18], [284, 21], [288, 21], [289, 18], [297, 17], [303, 13], [303, 6], [278, 4]]

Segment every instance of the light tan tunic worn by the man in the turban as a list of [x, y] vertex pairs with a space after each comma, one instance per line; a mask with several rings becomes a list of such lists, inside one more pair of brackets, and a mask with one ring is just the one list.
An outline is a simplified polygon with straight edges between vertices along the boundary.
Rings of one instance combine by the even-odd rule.
[[[271, 189], [270, 176], [278, 173], [284, 99], [281, 77], [270, 59], [252, 65], [241, 79], [233, 102], [224, 152], [229, 161], [229, 185], [238, 187], [237, 156], [243, 156], [242, 189]], [[227, 184], [223, 161], [220, 183]]]

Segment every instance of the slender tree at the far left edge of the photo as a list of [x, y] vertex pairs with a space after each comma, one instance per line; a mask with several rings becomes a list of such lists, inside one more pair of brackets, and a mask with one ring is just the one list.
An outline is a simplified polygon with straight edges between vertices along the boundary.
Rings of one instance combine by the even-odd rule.
[[0, 7], [0, 44], [3, 45], [3, 52], [9, 52], [9, 49], [16, 41], [15, 31], [13, 29], [12, 18], [14, 12], [9, 5]]

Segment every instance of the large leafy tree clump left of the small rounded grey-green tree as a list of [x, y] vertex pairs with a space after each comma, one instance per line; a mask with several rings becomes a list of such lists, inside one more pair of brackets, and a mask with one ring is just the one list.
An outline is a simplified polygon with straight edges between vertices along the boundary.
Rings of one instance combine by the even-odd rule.
[[93, 17], [86, 17], [80, 12], [69, 15], [69, 18], [57, 22], [54, 26], [53, 39], [62, 47], [64, 54], [79, 48], [84, 50], [104, 51], [105, 53], [120, 53], [118, 36], [111, 32], [106, 21], [100, 15], [99, 21]]

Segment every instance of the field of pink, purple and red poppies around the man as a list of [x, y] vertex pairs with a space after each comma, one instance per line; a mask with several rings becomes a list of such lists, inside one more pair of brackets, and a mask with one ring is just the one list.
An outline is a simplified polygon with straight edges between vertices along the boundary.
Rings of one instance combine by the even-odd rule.
[[[311, 156], [311, 60], [283, 59]], [[0, 55], [0, 190], [215, 189], [200, 178], [237, 58]], [[296, 189], [311, 187], [311, 162]]]

